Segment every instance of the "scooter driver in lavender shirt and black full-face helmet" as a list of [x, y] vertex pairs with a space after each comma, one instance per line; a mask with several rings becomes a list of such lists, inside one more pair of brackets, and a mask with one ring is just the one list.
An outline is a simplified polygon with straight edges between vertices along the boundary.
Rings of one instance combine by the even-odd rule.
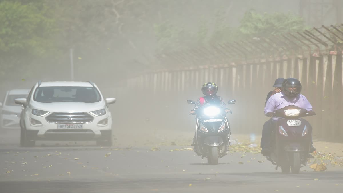
[[[311, 103], [307, 100], [307, 98], [304, 95], [300, 94], [301, 88], [302, 86], [299, 80], [295, 78], [285, 79], [282, 82], [281, 92], [272, 95], [268, 99], [264, 107], [264, 114], [267, 116], [272, 116], [275, 110], [282, 109], [283, 107], [288, 106], [288, 105], [296, 105], [302, 109], [306, 109], [307, 113], [310, 116], [315, 115], [315, 112], [312, 110]], [[263, 133], [262, 133], [262, 138], [266, 140], [265, 144], [268, 144], [268, 146], [262, 147], [261, 154], [263, 156], [269, 156], [270, 154], [269, 144], [270, 144], [270, 138], [271, 138], [270, 137], [271, 129], [275, 127], [276, 122], [281, 119], [282, 118], [280, 117], [273, 116], [271, 127], [265, 128], [266, 130], [264, 132], [264, 135], [267, 135], [265, 138], [263, 137]], [[304, 120], [303, 118], [301, 120], [304, 121], [305, 124], [309, 126], [310, 130], [312, 130], [311, 125], [306, 120]], [[316, 148], [314, 148], [312, 144], [313, 143], [311, 140], [310, 153], [316, 150]]]

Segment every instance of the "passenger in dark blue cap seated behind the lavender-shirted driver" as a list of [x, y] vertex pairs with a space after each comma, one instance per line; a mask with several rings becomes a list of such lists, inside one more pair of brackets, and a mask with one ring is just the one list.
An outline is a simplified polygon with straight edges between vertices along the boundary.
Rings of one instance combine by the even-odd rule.
[[[273, 87], [275, 87], [275, 88], [274, 88], [274, 90], [270, 91], [267, 94], [267, 99], [265, 99], [264, 106], [267, 104], [268, 99], [272, 95], [281, 92], [281, 86], [282, 86], [282, 82], [284, 80], [285, 80], [284, 78], [278, 78], [275, 80], [274, 85], [273, 85]], [[270, 137], [269, 135], [270, 135], [271, 127], [272, 127], [272, 119], [270, 118], [268, 121], [266, 121], [263, 124], [262, 137], [261, 137], [261, 148], [262, 149], [269, 148], [269, 139], [267, 139], [267, 138]]]

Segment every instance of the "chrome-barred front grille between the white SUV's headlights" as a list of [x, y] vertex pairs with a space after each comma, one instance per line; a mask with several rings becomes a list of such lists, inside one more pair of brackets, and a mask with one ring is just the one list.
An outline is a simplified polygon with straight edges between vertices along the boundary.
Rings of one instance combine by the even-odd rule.
[[49, 123], [90, 123], [94, 117], [84, 112], [56, 112], [46, 117]]

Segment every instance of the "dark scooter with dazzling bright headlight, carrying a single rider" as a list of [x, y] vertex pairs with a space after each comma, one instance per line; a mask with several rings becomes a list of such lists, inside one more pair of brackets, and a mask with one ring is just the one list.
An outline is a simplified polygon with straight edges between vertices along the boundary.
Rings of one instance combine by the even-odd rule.
[[[192, 100], [187, 100], [187, 103], [195, 104]], [[236, 100], [227, 102], [227, 104], [235, 103]], [[197, 125], [192, 146], [197, 147], [202, 158], [207, 157], [209, 164], [218, 164], [218, 158], [227, 155], [230, 145], [230, 126], [225, 110], [219, 106], [208, 105], [196, 110], [194, 114], [197, 114]]]

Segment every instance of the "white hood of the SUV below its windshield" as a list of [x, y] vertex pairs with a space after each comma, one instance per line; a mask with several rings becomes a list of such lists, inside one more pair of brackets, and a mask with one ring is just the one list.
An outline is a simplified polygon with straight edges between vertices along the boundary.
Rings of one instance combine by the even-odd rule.
[[105, 108], [105, 102], [99, 101], [95, 103], [83, 102], [54, 102], [54, 103], [41, 103], [31, 101], [31, 109], [38, 109], [49, 112], [90, 112]]

